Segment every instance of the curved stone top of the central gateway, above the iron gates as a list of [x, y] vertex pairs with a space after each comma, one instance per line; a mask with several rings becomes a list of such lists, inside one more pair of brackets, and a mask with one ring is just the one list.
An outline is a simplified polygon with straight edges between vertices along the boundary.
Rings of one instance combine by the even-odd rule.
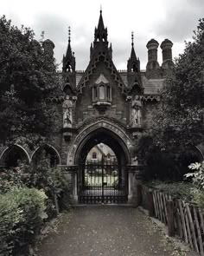
[[129, 149], [133, 147], [131, 139], [126, 135], [123, 127], [107, 118], [99, 118], [99, 120], [92, 121], [81, 129], [70, 147], [67, 164], [77, 165], [84, 162], [86, 154], [99, 142], [110, 146], [117, 156], [120, 156], [121, 161], [123, 161], [121, 163], [131, 164], [129, 152]]

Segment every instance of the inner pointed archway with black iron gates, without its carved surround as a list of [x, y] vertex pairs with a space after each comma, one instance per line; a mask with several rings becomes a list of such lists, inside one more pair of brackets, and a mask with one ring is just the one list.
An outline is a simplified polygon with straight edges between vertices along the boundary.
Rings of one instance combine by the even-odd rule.
[[[92, 148], [104, 144], [112, 149], [116, 162], [106, 161], [86, 163]], [[81, 141], [75, 154], [75, 164], [79, 166], [78, 194], [80, 203], [126, 203], [128, 200], [128, 160], [127, 148], [118, 135], [107, 128], [98, 128]]]

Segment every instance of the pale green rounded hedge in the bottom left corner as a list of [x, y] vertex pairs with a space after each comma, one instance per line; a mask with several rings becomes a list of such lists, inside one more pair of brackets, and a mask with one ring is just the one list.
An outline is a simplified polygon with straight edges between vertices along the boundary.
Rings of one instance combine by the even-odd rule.
[[0, 194], [0, 256], [29, 254], [29, 245], [48, 217], [46, 199], [42, 191], [28, 187]]

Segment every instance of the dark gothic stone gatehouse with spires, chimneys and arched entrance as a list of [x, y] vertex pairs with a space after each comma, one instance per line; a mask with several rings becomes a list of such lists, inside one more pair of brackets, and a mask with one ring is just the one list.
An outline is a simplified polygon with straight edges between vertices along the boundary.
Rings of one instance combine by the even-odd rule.
[[[151, 111], [160, 100], [164, 77], [173, 65], [172, 45], [168, 39], [161, 44], [163, 63], [160, 66], [157, 62], [159, 43], [151, 39], [146, 45], [146, 71], [142, 71], [132, 40], [127, 70], [118, 70], [112, 60], [112, 44], [108, 42], [100, 11], [90, 47], [90, 62], [85, 71], [76, 71], [69, 37], [61, 72], [64, 100], [56, 106], [61, 118], [52, 138], [41, 147], [66, 170], [76, 203], [131, 202], [137, 174], [142, 167], [133, 149], [144, 128], [148, 128]], [[45, 41], [44, 49], [53, 54], [54, 43]], [[116, 179], [114, 183], [108, 181], [107, 176], [112, 176], [112, 170], [111, 167], [107, 170], [105, 165], [99, 167], [102, 170], [99, 183], [91, 181], [96, 174], [87, 172], [86, 156], [99, 143], [112, 148], [117, 157], [117, 167], [112, 167], [117, 168], [117, 182]], [[16, 148], [19, 158], [24, 157], [29, 162], [34, 161], [39, 151], [39, 148], [23, 148], [20, 143], [12, 148], [1, 148], [2, 164]], [[91, 179], [88, 181], [91, 186], [87, 186], [86, 179]]]

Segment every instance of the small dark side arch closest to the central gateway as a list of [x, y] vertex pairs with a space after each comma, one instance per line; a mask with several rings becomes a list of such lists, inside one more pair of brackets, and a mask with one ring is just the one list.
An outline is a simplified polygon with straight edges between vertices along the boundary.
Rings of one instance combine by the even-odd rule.
[[37, 156], [41, 154], [42, 151], [45, 151], [46, 154], [50, 155], [50, 165], [59, 165], [61, 164], [61, 155], [56, 148], [52, 145], [45, 143], [38, 148], [35, 148], [35, 151], [31, 155], [31, 161], [37, 161]]

